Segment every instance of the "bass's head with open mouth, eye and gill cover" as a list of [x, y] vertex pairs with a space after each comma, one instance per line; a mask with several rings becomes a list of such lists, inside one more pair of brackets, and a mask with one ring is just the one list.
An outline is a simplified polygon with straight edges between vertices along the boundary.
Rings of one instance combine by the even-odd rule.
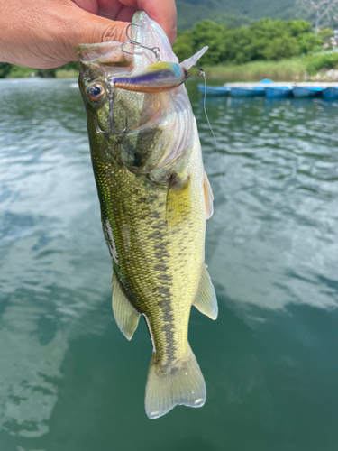
[[[114, 88], [114, 78], [132, 76], [160, 60], [178, 63], [166, 34], [144, 12], [134, 14], [132, 41], [78, 45], [79, 87], [87, 111], [91, 150], [132, 171], [167, 167], [191, 147], [196, 129], [187, 90], [137, 92]], [[103, 151], [103, 149], [105, 151]]]

